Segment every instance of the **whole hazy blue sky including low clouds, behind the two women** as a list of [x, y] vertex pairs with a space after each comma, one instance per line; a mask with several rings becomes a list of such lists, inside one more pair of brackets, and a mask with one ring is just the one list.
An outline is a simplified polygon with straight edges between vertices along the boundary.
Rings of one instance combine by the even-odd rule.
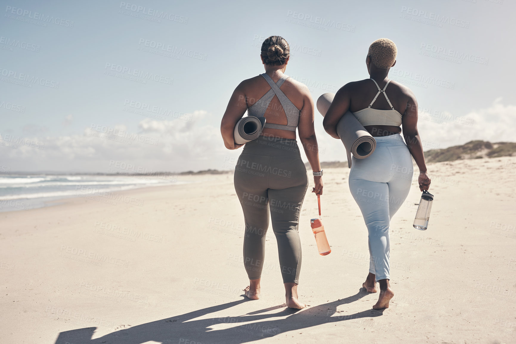
[[[515, 5], [503, 0], [362, 2], [2, 1], [0, 165], [11, 171], [231, 169], [219, 124], [284, 37], [286, 74], [314, 101], [367, 77], [371, 42], [392, 39], [390, 77], [421, 107], [425, 150], [514, 141]], [[322, 129], [321, 161], [345, 160]], [[108, 135], [109, 134], [109, 135]]]

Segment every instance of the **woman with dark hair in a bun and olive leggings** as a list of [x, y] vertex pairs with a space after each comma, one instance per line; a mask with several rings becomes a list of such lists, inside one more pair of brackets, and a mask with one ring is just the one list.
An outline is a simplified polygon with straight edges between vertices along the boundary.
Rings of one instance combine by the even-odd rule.
[[265, 73], [242, 81], [231, 96], [222, 117], [220, 131], [227, 149], [240, 148], [234, 140], [235, 125], [244, 116], [265, 117], [261, 136], [245, 144], [235, 167], [236, 194], [244, 211], [244, 266], [249, 286], [244, 291], [251, 300], [260, 298], [265, 235], [269, 225], [278, 243], [280, 271], [287, 307], [303, 308], [297, 285], [301, 268], [299, 212], [308, 188], [307, 170], [296, 141], [296, 128], [312, 167], [312, 192], [322, 194], [314, 130], [314, 103], [308, 88], [285, 75], [289, 59], [288, 43], [270, 36], [262, 44], [260, 58]]

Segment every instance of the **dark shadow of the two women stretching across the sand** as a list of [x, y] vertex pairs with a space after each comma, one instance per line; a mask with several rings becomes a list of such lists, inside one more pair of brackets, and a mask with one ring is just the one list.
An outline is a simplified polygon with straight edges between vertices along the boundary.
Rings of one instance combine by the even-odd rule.
[[[366, 295], [365, 289], [361, 288], [353, 296], [300, 311], [285, 308], [285, 306], [275, 306], [234, 317], [191, 320], [249, 301], [244, 299], [133, 326], [96, 339], [91, 339], [96, 327], [61, 332], [55, 344], [140, 344], [151, 340], [159, 343], [246, 343], [329, 322], [381, 316], [382, 310], [374, 309], [335, 316], [338, 314], [337, 306], [360, 300]], [[263, 314], [281, 308], [283, 310], [279, 313]], [[285, 316], [286, 318], [283, 318]], [[282, 319], [273, 319], [278, 317]], [[242, 324], [236, 325], [238, 323]], [[212, 330], [211, 326], [214, 325], [217, 325], [217, 329]]]

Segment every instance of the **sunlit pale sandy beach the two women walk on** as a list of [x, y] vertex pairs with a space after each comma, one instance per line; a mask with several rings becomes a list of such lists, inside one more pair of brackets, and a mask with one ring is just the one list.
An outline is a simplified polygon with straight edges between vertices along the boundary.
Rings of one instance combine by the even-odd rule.
[[[417, 171], [417, 168], [415, 169]], [[262, 298], [249, 301], [233, 174], [75, 198], [0, 214], [3, 343], [514, 343], [516, 157], [430, 163], [427, 231], [412, 227], [412, 184], [391, 222], [391, 306], [361, 289], [367, 230], [349, 169], [325, 170], [319, 256], [308, 192], [295, 312], [284, 305], [269, 227]], [[311, 186], [309, 188], [311, 190]]]

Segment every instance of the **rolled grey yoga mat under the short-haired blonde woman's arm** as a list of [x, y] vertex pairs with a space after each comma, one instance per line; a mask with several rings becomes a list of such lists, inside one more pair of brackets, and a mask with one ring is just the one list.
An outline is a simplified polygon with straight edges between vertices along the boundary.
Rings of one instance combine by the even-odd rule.
[[[317, 100], [317, 110], [322, 114], [322, 117], [328, 112], [334, 97], [335, 93], [325, 93]], [[367, 132], [349, 110], [338, 121], [337, 134], [346, 148], [349, 168], [351, 168], [351, 153], [357, 159], [365, 159], [373, 154], [376, 149], [375, 138]]]

